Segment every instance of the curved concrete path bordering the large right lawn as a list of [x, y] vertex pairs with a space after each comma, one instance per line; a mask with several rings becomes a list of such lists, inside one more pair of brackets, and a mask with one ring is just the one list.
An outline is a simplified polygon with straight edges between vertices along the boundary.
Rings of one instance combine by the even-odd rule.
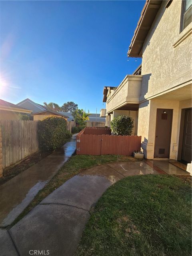
[[[20, 256], [30, 250], [49, 250], [50, 256], [72, 256], [90, 209], [116, 181], [132, 175], [158, 174], [145, 162], [119, 162], [96, 166], [74, 176], [13, 226], [9, 248]], [[6, 236], [0, 242], [4, 244]], [[5, 241], [2, 256], [6, 256]], [[13, 254], [14, 255], [14, 254]]]

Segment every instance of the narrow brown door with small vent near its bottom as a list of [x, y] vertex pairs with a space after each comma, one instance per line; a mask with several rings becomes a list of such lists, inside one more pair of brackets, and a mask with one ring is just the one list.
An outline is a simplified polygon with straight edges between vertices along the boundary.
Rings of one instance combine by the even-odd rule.
[[154, 158], [169, 158], [172, 109], [157, 109]]

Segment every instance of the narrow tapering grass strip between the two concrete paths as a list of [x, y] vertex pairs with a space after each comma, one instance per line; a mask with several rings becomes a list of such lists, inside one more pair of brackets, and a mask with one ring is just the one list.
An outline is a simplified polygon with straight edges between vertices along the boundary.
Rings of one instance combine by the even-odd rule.
[[68, 179], [72, 178], [76, 174], [97, 166], [100, 164], [106, 164], [111, 162], [124, 162], [124, 161], [136, 161], [130, 156], [118, 156], [118, 155], [102, 155], [102, 156], [90, 156], [90, 155], [74, 155], [66, 162], [62, 168], [54, 175], [54, 177], [46, 184], [46, 186], [38, 192], [35, 198], [25, 208], [25, 210], [12, 222], [10, 226], [13, 226], [21, 218], [23, 218], [32, 208], [39, 204], [46, 196], [53, 192], [56, 188], [61, 186]]

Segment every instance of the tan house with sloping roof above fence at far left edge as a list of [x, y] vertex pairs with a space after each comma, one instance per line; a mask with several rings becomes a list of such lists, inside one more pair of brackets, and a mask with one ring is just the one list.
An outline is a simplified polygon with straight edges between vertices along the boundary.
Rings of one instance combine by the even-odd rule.
[[30, 114], [32, 110], [0, 100], [0, 120], [19, 120], [19, 114]]

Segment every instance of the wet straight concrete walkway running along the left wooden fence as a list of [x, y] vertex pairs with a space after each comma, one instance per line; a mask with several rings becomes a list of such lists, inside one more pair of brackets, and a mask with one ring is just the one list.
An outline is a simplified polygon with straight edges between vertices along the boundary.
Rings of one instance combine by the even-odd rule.
[[10, 225], [76, 150], [76, 135], [34, 166], [0, 186], [0, 226]]

